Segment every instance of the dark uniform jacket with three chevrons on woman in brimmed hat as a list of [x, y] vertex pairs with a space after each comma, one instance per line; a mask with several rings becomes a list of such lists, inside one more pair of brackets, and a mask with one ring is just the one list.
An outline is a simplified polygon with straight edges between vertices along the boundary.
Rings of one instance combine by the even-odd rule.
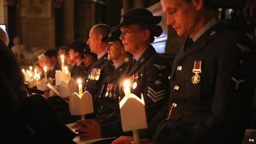
[[[132, 63], [127, 66], [122, 82], [132, 75], [138, 75], [137, 81], [135, 80], [137, 87], [135, 89], [131, 87], [130, 91], [139, 98], [141, 98], [141, 94], [143, 94], [146, 119], [148, 122], [166, 103], [166, 91], [168, 89], [168, 76], [170, 72], [171, 66], [169, 62], [162, 55], [156, 53], [153, 46], [149, 46], [133, 66]], [[133, 85], [134, 82], [131, 82], [131, 85]], [[119, 90], [121, 97], [123, 97], [124, 92], [122, 85]], [[112, 129], [111, 132], [109, 131], [110, 128]], [[101, 133], [103, 137], [119, 136], [123, 134], [121, 119], [103, 124], [101, 126]]]

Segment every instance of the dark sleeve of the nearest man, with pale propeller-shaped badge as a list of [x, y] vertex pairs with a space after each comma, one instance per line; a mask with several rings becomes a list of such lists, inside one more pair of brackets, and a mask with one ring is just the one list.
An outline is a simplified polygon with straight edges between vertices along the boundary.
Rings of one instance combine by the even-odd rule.
[[253, 95], [251, 71], [255, 71], [255, 61], [248, 53], [248, 48], [239, 43], [224, 48], [218, 59], [212, 115], [156, 143], [217, 144], [226, 142], [226, 138], [228, 143], [241, 143]]

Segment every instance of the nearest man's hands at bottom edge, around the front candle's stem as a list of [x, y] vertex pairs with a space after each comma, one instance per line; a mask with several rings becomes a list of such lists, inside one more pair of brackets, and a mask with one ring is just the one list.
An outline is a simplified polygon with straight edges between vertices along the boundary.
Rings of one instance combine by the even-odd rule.
[[[127, 137], [127, 136], [121, 136], [118, 139], [114, 140], [111, 144], [131, 144], [134, 139], [133, 137]], [[151, 139], [141, 139], [140, 140], [141, 144], [155, 144], [154, 141]]]

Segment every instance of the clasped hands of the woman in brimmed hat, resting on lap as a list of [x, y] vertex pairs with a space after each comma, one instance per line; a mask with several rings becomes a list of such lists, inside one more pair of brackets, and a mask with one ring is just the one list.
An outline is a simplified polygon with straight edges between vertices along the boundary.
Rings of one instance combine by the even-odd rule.
[[79, 128], [75, 130], [78, 132], [80, 140], [98, 139], [101, 138], [101, 124], [91, 119], [79, 120]]

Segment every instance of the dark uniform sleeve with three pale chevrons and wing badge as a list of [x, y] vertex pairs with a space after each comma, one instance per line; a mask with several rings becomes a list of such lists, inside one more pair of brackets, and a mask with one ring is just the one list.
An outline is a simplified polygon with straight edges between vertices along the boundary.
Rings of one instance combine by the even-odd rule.
[[167, 59], [155, 56], [146, 69], [144, 101], [147, 121], [150, 121], [167, 100], [171, 66]]

